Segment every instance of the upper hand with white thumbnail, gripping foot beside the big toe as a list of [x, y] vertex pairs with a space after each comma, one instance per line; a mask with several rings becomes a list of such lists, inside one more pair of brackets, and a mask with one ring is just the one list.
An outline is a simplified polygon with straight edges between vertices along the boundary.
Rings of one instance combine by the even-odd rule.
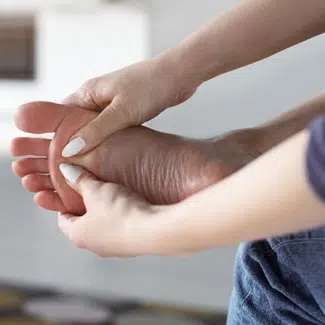
[[143, 61], [89, 80], [68, 97], [66, 105], [102, 113], [71, 137], [62, 155], [85, 153], [112, 133], [140, 125], [191, 97], [197, 85], [166, 61]]

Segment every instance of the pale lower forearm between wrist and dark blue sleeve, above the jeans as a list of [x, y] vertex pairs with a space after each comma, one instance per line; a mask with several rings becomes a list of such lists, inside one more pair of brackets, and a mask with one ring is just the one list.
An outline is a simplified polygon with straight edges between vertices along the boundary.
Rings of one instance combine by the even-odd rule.
[[303, 131], [233, 176], [153, 220], [154, 253], [182, 254], [325, 224], [306, 173]]

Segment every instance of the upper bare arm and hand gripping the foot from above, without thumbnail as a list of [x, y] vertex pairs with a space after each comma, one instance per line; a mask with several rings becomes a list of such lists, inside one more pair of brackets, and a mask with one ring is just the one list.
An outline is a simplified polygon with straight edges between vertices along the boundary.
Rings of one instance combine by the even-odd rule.
[[71, 139], [81, 137], [87, 152], [184, 102], [205, 81], [324, 32], [323, 0], [241, 1], [162, 54], [87, 81], [65, 103], [102, 113]]

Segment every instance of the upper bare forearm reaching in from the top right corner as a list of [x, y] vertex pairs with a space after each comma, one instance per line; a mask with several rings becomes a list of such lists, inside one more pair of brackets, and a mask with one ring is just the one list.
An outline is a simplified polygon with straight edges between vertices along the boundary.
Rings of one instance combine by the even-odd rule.
[[246, 0], [158, 58], [200, 84], [324, 31], [323, 0]]

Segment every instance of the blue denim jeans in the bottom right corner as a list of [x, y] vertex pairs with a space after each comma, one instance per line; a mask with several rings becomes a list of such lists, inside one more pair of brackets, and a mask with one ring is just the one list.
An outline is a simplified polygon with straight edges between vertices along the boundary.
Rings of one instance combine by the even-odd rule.
[[227, 325], [325, 324], [325, 228], [239, 247]]

